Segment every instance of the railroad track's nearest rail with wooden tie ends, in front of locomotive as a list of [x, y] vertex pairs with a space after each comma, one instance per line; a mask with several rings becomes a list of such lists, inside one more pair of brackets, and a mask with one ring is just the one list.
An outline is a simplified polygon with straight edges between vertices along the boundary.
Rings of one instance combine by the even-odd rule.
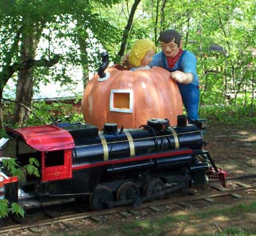
[[[251, 176], [252, 177], [252, 176]], [[230, 179], [243, 179], [243, 177], [234, 177]], [[230, 181], [230, 180], [228, 180]], [[214, 202], [214, 198], [218, 198], [219, 196], [227, 196], [230, 195], [233, 198], [241, 198], [244, 193], [248, 193], [249, 191], [254, 192], [256, 195], [256, 184], [248, 185], [244, 184], [243, 182], [234, 181], [233, 184], [236, 184], [237, 188], [234, 189], [227, 189], [223, 188], [214, 182], [211, 184], [212, 191], [209, 193], [195, 193], [191, 192], [190, 195], [185, 196], [176, 196], [168, 199], [162, 200], [154, 200], [141, 203], [136, 209], [132, 207], [132, 205], [125, 206], [125, 207], [116, 207], [115, 209], [108, 209], [108, 210], [101, 210], [101, 211], [86, 211], [82, 213], [75, 213], [75, 214], [68, 214], [66, 216], [52, 216], [51, 214], [47, 214], [48, 219], [40, 219], [40, 221], [33, 222], [33, 223], [18, 223], [15, 225], [4, 226], [0, 228], [0, 233], [6, 233], [16, 230], [31, 230], [33, 231], [35, 227], [45, 226], [45, 225], [52, 225], [56, 223], [62, 223], [65, 225], [67, 221], [73, 221], [77, 219], [92, 219], [93, 221], [100, 222], [100, 216], [106, 216], [111, 214], [120, 214], [122, 216], [138, 216], [140, 211], [143, 209], [150, 209], [155, 212], [159, 211], [159, 207], [164, 205], [172, 205], [172, 204], [179, 204], [182, 206], [186, 205], [186, 202], [191, 202], [195, 200], [205, 200], [207, 202]], [[47, 212], [47, 211], [45, 211]]]

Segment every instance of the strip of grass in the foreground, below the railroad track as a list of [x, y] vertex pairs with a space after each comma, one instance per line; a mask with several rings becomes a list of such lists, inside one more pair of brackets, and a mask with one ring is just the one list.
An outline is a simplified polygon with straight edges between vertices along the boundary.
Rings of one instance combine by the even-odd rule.
[[[146, 219], [129, 219], [124, 221], [113, 221], [109, 224], [101, 223], [93, 225], [93, 229], [83, 230], [83, 233], [78, 232], [74, 236], [255, 236], [256, 227], [247, 227], [243, 225], [243, 219], [246, 213], [253, 213], [256, 216], [256, 200], [251, 203], [240, 203], [231, 207], [216, 206], [209, 209], [199, 210], [183, 210], [180, 212], [172, 212], [168, 214], [159, 214], [154, 218]], [[232, 225], [234, 218], [241, 217], [241, 225]], [[227, 226], [221, 226], [221, 232], [215, 228], [214, 233], [209, 228], [213, 228], [216, 218], [227, 219]], [[204, 223], [204, 227], [202, 227]], [[198, 228], [199, 226], [199, 228]], [[189, 232], [189, 229], [191, 233]], [[64, 235], [61, 233], [60, 235]]]

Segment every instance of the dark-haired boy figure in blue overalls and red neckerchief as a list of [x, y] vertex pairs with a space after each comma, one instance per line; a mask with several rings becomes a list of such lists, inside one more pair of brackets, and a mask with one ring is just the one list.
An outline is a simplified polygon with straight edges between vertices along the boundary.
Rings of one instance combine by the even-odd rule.
[[149, 66], [159, 66], [170, 71], [172, 79], [179, 86], [188, 121], [198, 119], [199, 82], [195, 55], [188, 50], [182, 50], [181, 36], [172, 29], [163, 31], [159, 42], [162, 51], [154, 55]]

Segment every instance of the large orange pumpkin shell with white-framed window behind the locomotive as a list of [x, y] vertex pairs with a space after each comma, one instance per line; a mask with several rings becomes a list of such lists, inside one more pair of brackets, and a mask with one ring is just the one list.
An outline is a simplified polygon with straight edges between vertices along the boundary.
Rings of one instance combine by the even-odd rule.
[[[159, 67], [137, 71], [109, 67], [106, 72], [110, 73], [108, 80], [99, 82], [99, 75], [94, 75], [84, 89], [82, 112], [85, 122], [100, 129], [106, 122], [116, 123], [118, 128], [138, 128], [147, 124], [150, 118], [167, 118], [171, 126], [177, 125], [177, 115], [183, 114], [182, 98], [177, 83], [170, 78], [170, 72]], [[115, 90], [132, 91], [132, 113], [109, 110], [113, 104], [111, 91]], [[122, 100], [122, 96], [118, 98]]]

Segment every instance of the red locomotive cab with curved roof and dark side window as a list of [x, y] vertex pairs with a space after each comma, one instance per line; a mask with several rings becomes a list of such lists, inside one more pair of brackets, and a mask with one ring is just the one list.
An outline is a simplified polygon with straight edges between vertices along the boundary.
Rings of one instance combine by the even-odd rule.
[[6, 132], [15, 136], [30, 151], [17, 154], [21, 165], [26, 165], [29, 158], [36, 158], [40, 165], [41, 181], [57, 181], [72, 178], [72, 149], [74, 140], [70, 133], [58, 126], [36, 126], [20, 129], [6, 128]]

